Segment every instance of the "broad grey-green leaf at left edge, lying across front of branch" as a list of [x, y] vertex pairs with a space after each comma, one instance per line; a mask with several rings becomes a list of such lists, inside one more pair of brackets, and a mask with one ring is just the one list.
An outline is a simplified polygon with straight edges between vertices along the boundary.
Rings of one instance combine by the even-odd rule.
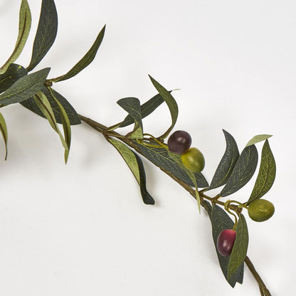
[[1, 93], [0, 104], [10, 105], [33, 97], [43, 87], [49, 70], [51, 68], [44, 68], [19, 78], [8, 90]]

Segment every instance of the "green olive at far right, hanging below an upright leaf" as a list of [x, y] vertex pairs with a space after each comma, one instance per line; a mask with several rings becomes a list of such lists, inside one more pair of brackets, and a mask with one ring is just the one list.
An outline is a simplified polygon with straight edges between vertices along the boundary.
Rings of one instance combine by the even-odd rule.
[[273, 216], [273, 213], [275, 213], [275, 206], [266, 199], [256, 199], [248, 206], [248, 214], [253, 221], [266, 221]]

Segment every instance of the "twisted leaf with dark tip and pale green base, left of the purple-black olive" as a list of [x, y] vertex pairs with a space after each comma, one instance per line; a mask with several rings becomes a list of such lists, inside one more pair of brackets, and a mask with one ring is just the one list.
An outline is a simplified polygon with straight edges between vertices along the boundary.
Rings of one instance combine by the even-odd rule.
[[134, 119], [134, 130], [130, 135], [131, 139], [142, 139], [143, 125], [139, 99], [137, 99], [137, 97], [125, 97], [118, 100], [117, 104], [125, 109], [125, 111], [127, 111], [127, 113], [129, 113], [129, 115]]

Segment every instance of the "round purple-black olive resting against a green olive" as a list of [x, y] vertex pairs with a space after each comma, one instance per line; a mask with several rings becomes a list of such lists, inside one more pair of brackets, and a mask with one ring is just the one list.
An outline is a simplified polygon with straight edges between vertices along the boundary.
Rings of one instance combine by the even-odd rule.
[[182, 154], [184, 151], [189, 149], [191, 145], [191, 136], [184, 130], [176, 130], [176, 132], [173, 132], [169, 136], [167, 145], [171, 152]]

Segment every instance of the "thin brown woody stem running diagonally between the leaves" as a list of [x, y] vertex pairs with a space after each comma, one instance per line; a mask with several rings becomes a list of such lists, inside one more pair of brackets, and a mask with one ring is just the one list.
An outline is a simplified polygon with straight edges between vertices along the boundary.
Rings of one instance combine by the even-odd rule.
[[[121, 139], [122, 142], [125, 142], [125, 144], [129, 145], [129, 147], [132, 147], [139, 154], [142, 154], [142, 152], [134, 144], [134, 142], [132, 142], [130, 139], [122, 136], [122, 134], [118, 134], [117, 132], [115, 132], [113, 130], [108, 130], [108, 127], [106, 127], [105, 125], [102, 125], [99, 122], [95, 122], [95, 120], [91, 120], [90, 118], [85, 117], [83, 115], [79, 115], [79, 117], [80, 117], [80, 120], [82, 120], [83, 122], [90, 125], [90, 127], [93, 127], [93, 129], [95, 129], [97, 132], [100, 132], [101, 134], [104, 134], [105, 136], [107, 134], [107, 136], [116, 137], [118, 139]], [[144, 155], [142, 154], [142, 156], [144, 156]], [[194, 188], [192, 188], [191, 186], [186, 184], [184, 181], [181, 181], [180, 179], [176, 178], [176, 176], [171, 174], [170, 171], [166, 171], [166, 169], [162, 168], [161, 166], [158, 166], [158, 167], [159, 167], [159, 169], [164, 171], [164, 173], [166, 173], [172, 179], [174, 179], [174, 181], [176, 181], [178, 184], [180, 184], [186, 191], [188, 191], [189, 194], [191, 194], [191, 196], [194, 197], [194, 199], [196, 199], [196, 193], [195, 193]], [[201, 206], [203, 206], [203, 208], [205, 208], [205, 205], [202, 202], [203, 199], [208, 199], [208, 201], [211, 201], [211, 203], [218, 203], [221, 206], [225, 206], [225, 203], [223, 201], [218, 201], [218, 198], [220, 196], [215, 196], [215, 197], [207, 196], [206, 194], [204, 194], [204, 190], [199, 191], [199, 196], [200, 196], [200, 199], [201, 199]], [[233, 211], [236, 211], [236, 213], [241, 211], [241, 208], [239, 208], [238, 206], [236, 206], [234, 204], [230, 204], [229, 208], [231, 208]], [[248, 266], [250, 272], [253, 274], [253, 276], [255, 277], [255, 280], [258, 282], [260, 294], [262, 296], [271, 296], [268, 288], [265, 286], [262, 278], [258, 274], [257, 270], [255, 270], [255, 267], [254, 267], [253, 263], [250, 261], [250, 258], [248, 258], [248, 256], [245, 257], [245, 264]]]

